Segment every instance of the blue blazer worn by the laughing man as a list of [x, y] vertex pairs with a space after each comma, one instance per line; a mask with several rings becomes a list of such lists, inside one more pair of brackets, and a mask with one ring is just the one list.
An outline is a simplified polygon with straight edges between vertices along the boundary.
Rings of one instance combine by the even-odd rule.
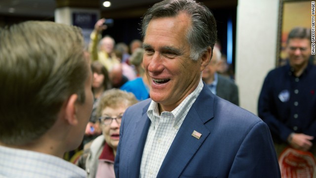
[[[115, 160], [117, 178], [139, 178], [151, 124], [151, 99], [122, 118]], [[193, 137], [199, 132], [200, 139]], [[280, 178], [268, 126], [254, 114], [212, 94], [205, 86], [189, 110], [157, 178]]]

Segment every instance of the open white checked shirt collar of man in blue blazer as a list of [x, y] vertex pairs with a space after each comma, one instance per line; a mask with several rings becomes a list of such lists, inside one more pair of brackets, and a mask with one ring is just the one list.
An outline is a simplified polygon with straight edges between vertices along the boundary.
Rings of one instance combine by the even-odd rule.
[[[194, 101], [197, 99], [198, 94], [203, 89], [203, 82], [202, 79], [200, 79], [197, 88], [190, 93], [180, 104], [177, 106], [174, 110], [172, 110], [170, 113], [174, 116], [175, 122], [174, 127], [182, 124], [185, 116], [188, 114], [191, 106], [193, 105]], [[166, 112], [166, 111], [164, 111]], [[151, 120], [152, 124], [154, 124], [154, 128], [156, 127], [156, 124], [158, 124], [158, 119], [160, 118], [159, 109], [158, 109], [158, 103], [154, 100], [151, 101], [149, 108], [147, 110], [147, 115], [149, 119]]]

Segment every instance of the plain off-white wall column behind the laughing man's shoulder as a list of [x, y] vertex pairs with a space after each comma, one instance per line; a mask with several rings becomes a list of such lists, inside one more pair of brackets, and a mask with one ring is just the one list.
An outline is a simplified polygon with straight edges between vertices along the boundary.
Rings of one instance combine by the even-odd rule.
[[257, 114], [263, 80], [275, 67], [279, 0], [238, 0], [236, 83], [240, 107]]

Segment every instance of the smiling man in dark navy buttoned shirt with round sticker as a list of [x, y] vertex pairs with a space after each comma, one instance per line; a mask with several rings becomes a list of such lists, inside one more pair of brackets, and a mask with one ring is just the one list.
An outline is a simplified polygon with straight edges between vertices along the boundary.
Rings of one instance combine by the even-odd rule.
[[291, 146], [316, 156], [316, 66], [309, 62], [311, 29], [287, 39], [288, 64], [270, 71], [259, 97], [259, 117], [270, 127], [278, 155]]

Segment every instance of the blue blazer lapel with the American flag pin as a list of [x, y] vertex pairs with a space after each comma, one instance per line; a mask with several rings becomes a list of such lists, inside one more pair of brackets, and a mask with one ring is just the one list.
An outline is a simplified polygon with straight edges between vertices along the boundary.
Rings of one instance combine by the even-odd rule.
[[[209, 129], [204, 124], [213, 118], [213, 106], [214, 95], [204, 85], [174, 138], [157, 178], [178, 178], [182, 174], [210, 134]], [[192, 136], [194, 131], [201, 134], [199, 139]]]

